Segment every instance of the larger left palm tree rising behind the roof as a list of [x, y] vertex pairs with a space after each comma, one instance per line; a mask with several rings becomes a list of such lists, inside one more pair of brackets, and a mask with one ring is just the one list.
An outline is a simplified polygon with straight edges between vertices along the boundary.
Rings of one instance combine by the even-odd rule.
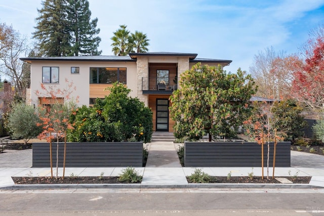
[[112, 52], [114, 55], [126, 56], [132, 49], [130, 42], [130, 31], [126, 29], [127, 25], [119, 25], [119, 29], [113, 32]]

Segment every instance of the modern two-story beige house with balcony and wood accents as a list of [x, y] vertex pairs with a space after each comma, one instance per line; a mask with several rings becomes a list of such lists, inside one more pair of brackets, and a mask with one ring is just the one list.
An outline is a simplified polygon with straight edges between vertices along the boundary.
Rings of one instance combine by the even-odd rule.
[[[76, 87], [71, 98], [79, 97], [78, 105], [92, 105], [96, 98], [109, 94], [104, 91], [116, 81], [131, 89], [130, 96], [138, 97], [153, 112], [154, 131], [173, 131], [174, 121], [169, 117], [169, 97], [177, 89], [180, 74], [196, 64], [222, 67], [231, 60], [196, 58], [194, 53], [130, 53], [129, 56], [71, 56], [29, 57], [21, 60], [30, 63], [30, 89], [26, 101], [30, 105], [48, 105], [41, 88], [54, 86], [66, 89], [65, 80]], [[40, 94], [36, 94], [36, 91]], [[60, 99], [60, 98], [58, 98]]]

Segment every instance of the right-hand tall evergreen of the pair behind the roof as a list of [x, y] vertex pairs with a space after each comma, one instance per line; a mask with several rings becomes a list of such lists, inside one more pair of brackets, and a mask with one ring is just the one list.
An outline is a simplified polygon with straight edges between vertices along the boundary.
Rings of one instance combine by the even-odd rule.
[[98, 47], [101, 39], [96, 36], [100, 32], [96, 28], [98, 18], [91, 20], [88, 0], [68, 0], [67, 13], [74, 56], [100, 55]]

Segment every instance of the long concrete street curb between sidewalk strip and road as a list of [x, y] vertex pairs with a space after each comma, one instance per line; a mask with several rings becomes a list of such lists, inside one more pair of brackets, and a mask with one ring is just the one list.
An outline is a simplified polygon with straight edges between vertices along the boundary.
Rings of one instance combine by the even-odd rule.
[[309, 184], [184, 184], [184, 185], [142, 185], [142, 184], [53, 184], [12, 185], [0, 190], [58, 190], [58, 189], [323, 189]]

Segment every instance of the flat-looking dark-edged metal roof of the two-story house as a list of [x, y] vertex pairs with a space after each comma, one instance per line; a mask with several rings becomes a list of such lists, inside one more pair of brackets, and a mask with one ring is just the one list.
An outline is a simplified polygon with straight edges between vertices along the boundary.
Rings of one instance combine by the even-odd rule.
[[129, 56], [64, 56], [64, 57], [28, 57], [20, 58], [22, 61], [136, 61], [138, 56], [188, 56], [190, 62], [214, 62], [231, 63], [231, 60], [196, 58], [196, 53], [172, 53], [172, 52], [148, 52], [148, 53], [129, 53]]

